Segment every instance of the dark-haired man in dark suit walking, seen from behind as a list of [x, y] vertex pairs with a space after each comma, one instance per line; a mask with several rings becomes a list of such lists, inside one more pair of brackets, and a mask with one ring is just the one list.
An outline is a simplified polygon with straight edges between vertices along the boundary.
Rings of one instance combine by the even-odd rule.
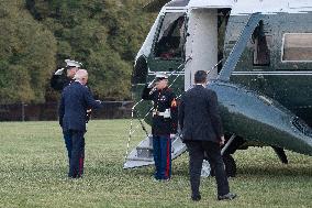
[[190, 157], [191, 199], [201, 199], [199, 186], [204, 152], [209, 162], [215, 167], [218, 199], [233, 199], [236, 195], [230, 193], [220, 150], [220, 145], [224, 143], [224, 136], [218, 97], [213, 90], [205, 88], [207, 77], [204, 70], [198, 70], [194, 74], [196, 86], [182, 95], [179, 106], [179, 124]]

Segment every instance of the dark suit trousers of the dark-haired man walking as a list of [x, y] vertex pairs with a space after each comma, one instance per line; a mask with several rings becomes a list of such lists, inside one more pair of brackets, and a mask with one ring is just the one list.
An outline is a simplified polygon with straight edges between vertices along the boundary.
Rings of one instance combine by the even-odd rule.
[[221, 155], [220, 145], [210, 141], [185, 141], [189, 151], [189, 174], [192, 196], [200, 195], [200, 175], [204, 152], [208, 160], [215, 168], [215, 180], [218, 186], [218, 196], [230, 193], [229, 180]]

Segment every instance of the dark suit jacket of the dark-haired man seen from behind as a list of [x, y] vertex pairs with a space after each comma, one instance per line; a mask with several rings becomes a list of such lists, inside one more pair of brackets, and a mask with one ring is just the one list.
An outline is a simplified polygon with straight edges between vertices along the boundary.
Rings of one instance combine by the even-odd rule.
[[179, 106], [183, 142], [220, 142], [223, 135], [216, 94], [201, 85], [186, 91]]

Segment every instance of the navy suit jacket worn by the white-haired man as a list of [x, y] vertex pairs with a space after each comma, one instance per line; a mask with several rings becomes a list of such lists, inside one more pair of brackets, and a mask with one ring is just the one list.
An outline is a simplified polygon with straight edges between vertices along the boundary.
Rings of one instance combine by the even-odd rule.
[[64, 131], [86, 131], [87, 109], [101, 108], [100, 101], [96, 101], [90, 90], [78, 81], [65, 87], [58, 109], [59, 124]]

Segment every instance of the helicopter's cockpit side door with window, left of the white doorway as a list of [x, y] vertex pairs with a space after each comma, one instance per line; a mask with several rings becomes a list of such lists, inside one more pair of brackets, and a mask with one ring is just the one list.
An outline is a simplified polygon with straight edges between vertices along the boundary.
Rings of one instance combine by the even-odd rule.
[[149, 72], [183, 69], [181, 64], [185, 61], [185, 31], [186, 14], [183, 12], [165, 13], [159, 21], [152, 53], [147, 59]]

